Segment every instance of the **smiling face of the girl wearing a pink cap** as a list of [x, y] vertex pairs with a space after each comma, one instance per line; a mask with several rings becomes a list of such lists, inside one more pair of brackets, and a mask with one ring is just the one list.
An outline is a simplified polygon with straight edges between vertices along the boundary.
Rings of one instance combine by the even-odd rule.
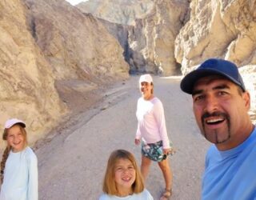
[[18, 125], [10, 127], [6, 140], [14, 152], [23, 150], [25, 137], [24, 134], [22, 134], [22, 130]]

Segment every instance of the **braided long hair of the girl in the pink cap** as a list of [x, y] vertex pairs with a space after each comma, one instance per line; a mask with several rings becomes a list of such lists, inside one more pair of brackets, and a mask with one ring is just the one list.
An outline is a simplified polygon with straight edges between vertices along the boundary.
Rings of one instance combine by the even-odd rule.
[[[24, 136], [24, 141], [25, 141], [23, 148], [25, 148], [27, 146], [26, 130], [19, 123], [14, 124], [14, 126], [19, 126], [20, 130], [22, 131], [22, 134]], [[14, 126], [11, 126], [11, 127], [14, 127]], [[7, 140], [8, 130], [10, 130], [10, 128], [9, 129], [5, 129], [3, 131], [3, 134], [2, 134], [2, 139], [3, 140]], [[1, 161], [1, 166], [0, 166], [1, 167], [0, 168], [1, 169], [1, 171], [0, 171], [0, 181], [1, 181], [1, 183], [3, 182], [3, 174], [4, 174], [5, 167], [6, 167], [6, 160], [7, 160], [8, 156], [9, 156], [9, 154], [10, 154], [10, 150], [11, 150], [11, 146], [9, 144], [7, 144], [6, 149], [4, 150], [4, 152], [2, 154], [2, 161]]]

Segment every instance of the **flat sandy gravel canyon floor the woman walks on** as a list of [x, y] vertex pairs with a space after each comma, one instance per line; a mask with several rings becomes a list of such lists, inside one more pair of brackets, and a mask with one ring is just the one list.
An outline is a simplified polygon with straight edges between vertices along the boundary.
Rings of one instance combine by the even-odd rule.
[[[154, 94], [162, 100], [167, 131], [177, 153], [169, 158], [174, 173], [171, 199], [200, 199], [206, 149], [210, 145], [194, 122], [191, 98], [179, 89], [180, 78], [154, 77]], [[63, 123], [49, 134], [38, 155], [39, 199], [95, 200], [102, 194], [102, 178], [112, 150], [130, 150], [140, 164], [140, 147], [134, 145], [138, 77], [118, 82], [90, 110]], [[152, 163], [146, 188], [158, 199], [164, 181]]]

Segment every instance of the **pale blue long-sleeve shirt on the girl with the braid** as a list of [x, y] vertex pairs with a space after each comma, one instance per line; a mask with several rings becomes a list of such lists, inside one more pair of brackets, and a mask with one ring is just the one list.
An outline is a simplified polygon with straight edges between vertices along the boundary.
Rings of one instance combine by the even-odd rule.
[[0, 200], [38, 200], [38, 159], [27, 146], [6, 160]]

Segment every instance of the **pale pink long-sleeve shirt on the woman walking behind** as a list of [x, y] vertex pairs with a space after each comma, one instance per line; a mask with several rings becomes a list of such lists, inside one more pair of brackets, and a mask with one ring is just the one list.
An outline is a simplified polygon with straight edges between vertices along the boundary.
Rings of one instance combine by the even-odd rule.
[[162, 140], [163, 149], [170, 148], [170, 141], [166, 130], [166, 118], [162, 102], [154, 97], [150, 100], [138, 98], [136, 117], [138, 128], [136, 138], [143, 138], [146, 143]]

